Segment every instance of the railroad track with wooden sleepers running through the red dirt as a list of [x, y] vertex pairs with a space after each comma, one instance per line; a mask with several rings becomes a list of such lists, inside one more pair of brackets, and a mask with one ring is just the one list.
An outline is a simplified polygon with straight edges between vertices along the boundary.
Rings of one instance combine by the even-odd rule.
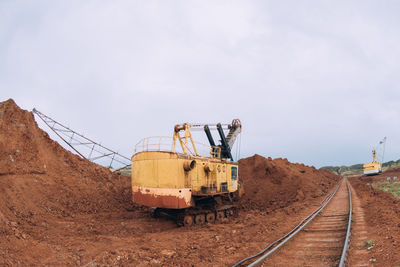
[[[351, 191], [341, 180], [320, 207], [290, 232], [238, 266], [344, 266], [351, 228]], [[290, 242], [288, 242], [290, 241]]]

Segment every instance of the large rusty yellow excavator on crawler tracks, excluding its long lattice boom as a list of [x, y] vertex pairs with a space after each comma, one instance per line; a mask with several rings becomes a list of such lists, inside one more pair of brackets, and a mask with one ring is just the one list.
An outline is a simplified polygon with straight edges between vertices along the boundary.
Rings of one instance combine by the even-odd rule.
[[[190, 129], [203, 128], [210, 146], [207, 156], [198, 152]], [[215, 144], [211, 130], [217, 130]], [[224, 129], [228, 130], [225, 136]], [[238, 163], [232, 147], [240, 134], [239, 119], [231, 124], [176, 125], [172, 144], [163, 137], [145, 138], [132, 156], [132, 198], [135, 203], [155, 208], [155, 215], [168, 214], [179, 225], [190, 226], [236, 216], [234, 205], [243, 193]], [[156, 140], [156, 141], [155, 141]]]

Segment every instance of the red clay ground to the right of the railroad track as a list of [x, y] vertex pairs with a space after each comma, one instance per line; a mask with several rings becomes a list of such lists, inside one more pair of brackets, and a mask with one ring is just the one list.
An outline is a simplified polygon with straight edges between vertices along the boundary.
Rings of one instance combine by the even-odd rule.
[[[363, 259], [370, 266], [400, 265], [400, 200], [371, 186], [372, 182], [386, 181], [387, 177], [394, 176], [400, 177], [400, 169], [349, 179], [362, 208], [358, 220], [364, 221], [362, 238], [352, 240], [353, 249], [358, 252], [350, 252], [350, 261]], [[373, 244], [370, 249], [367, 241]]]

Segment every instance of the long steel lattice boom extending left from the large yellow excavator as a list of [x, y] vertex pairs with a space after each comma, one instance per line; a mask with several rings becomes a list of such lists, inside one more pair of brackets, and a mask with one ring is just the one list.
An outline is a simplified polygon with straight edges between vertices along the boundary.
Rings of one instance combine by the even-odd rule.
[[[32, 112], [37, 115], [61, 140], [63, 140], [73, 151], [82, 158], [88, 159], [99, 164], [100, 160], [110, 159], [109, 168], [120, 170], [131, 165], [131, 159], [115, 152], [101, 144], [71, 130], [54, 119], [46, 116], [37, 109]], [[87, 156], [84, 156], [83, 150], [89, 151]]]

